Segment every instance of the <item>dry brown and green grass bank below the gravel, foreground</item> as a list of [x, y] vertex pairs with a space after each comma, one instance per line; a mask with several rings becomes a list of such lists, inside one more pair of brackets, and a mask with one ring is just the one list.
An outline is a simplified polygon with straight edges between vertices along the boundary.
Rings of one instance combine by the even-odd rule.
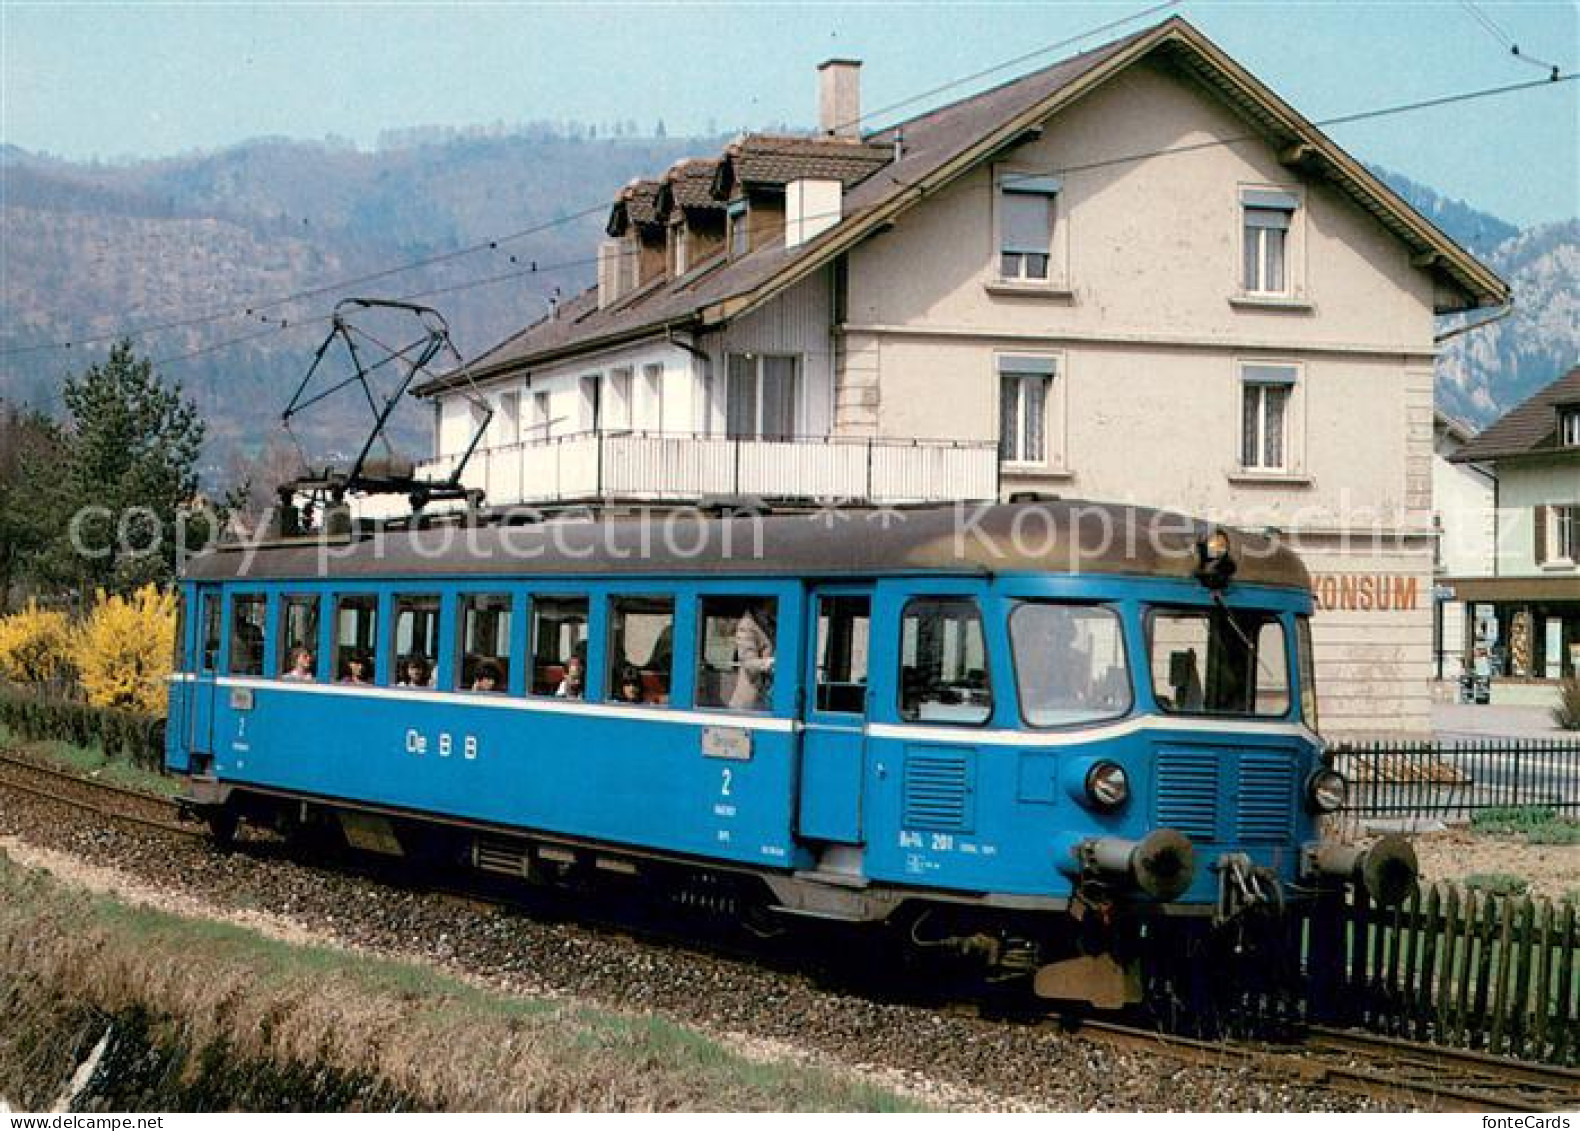
[[90, 1009], [167, 1019], [193, 1049], [374, 1079], [434, 1109], [916, 1109], [659, 1017], [515, 997], [431, 967], [131, 907], [3, 853], [0, 970]]

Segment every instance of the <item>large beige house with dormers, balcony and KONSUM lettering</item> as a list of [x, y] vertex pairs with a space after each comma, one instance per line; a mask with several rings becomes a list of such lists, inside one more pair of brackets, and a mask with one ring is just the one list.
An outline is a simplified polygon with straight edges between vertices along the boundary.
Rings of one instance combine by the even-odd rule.
[[1324, 728], [1422, 733], [1433, 319], [1506, 284], [1171, 19], [618, 194], [597, 286], [430, 381], [490, 505], [1044, 491], [1288, 532]]

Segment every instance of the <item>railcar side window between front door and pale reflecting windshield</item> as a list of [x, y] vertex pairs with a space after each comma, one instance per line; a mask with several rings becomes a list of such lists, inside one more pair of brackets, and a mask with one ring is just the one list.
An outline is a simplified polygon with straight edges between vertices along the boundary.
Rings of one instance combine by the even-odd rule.
[[912, 722], [981, 723], [992, 712], [988, 644], [976, 602], [905, 605], [899, 633], [899, 712]]

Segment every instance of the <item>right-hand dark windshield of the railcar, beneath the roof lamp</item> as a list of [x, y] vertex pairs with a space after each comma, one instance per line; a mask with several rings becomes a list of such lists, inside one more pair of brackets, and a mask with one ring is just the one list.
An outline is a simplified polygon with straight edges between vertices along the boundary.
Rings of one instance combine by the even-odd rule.
[[1149, 621], [1152, 692], [1171, 714], [1278, 717], [1289, 662], [1277, 613], [1164, 608]]

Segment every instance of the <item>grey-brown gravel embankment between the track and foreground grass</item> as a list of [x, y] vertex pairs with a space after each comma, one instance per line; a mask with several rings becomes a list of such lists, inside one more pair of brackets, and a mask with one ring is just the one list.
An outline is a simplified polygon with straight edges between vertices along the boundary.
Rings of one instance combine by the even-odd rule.
[[302, 938], [431, 962], [512, 992], [651, 1013], [750, 1055], [844, 1066], [931, 1104], [1062, 1110], [1357, 1110], [1354, 1096], [1112, 1049], [1049, 1027], [962, 1017], [831, 990], [719, 954], [539, 921], [202, 842], [93, 828], [47, 801], [0, 791], [0, 836], [122, 897]]

